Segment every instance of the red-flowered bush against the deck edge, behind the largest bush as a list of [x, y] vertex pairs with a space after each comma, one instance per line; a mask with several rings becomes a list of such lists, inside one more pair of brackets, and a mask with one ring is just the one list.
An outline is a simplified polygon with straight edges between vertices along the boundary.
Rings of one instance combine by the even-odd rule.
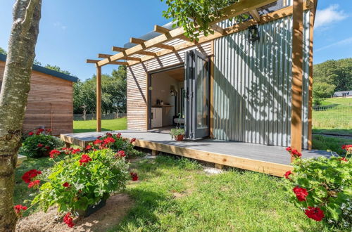
[[[143, 155], [142, 152], [134, 149], [134, 141], [136, 138], [128, 140], [127, 138], [122, 138], [121, 134], [111, 134], [106, 133], [105, 136], [99, 136], [96, 141], [89, 143], [86, 150], [89, 149], [103, 149], [110, 148], [115, 152], [123, 151], [123, 154], [127, 157], [140, 156]], [[122, 152], [121, 152], [122, 153]]]

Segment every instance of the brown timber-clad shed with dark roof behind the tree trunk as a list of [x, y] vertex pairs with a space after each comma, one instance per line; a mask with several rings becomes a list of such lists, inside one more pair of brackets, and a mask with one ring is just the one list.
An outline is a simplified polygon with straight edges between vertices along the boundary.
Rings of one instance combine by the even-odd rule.
[[[0, 86], [5, 63], [6, 56], [0, 54]], [[39, 127], [51, 129], [54, 135], [73, 133], [73, 83], [77, 80], [77, 77], [33, 65], [23, 133]]]

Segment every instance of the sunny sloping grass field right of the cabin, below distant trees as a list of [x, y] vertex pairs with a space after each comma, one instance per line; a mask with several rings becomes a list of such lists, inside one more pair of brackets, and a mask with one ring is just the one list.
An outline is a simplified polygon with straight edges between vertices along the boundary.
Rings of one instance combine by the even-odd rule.
[[352, 98], [326, 98], [322, 105], [335, 107], [313, 111], [313, 133], [352, 135]]

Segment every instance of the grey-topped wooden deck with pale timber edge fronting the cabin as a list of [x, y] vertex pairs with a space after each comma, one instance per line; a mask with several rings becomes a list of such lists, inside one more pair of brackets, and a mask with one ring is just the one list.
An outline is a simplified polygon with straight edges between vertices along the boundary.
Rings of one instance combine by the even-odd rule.
[[[149, 148], [164, 153], [182, 155], [196, 160], [213, 162], [275, 176], [283, 176], [291, 170], [290, 157], [285, 148], [265, 146], [253, 143], [235, 141], [219, 141], [203, 139], [199, 141], [173, 141], [169, 134], [137, 130], [109, 131], [121, 133], [125, 138], [137, 138], [135, 146]], [[61, 140], [66, 143], [85, 147], [104, 132], [88, 132], [79, 134], [61, 134]], [[303, 150], [303, 158], [329, 157], [330, 153], [323, 150]]]

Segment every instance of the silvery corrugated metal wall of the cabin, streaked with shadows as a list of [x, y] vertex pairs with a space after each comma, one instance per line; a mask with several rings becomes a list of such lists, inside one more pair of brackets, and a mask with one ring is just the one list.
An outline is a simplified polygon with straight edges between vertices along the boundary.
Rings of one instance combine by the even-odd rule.
[[[309, 13], [304, 16], [303, 147], [308, 138]], [[228, 27], [232, 22], [222, 22]], [[258, 26], [260, 41], [247, 30], [215, 40], [215, 138], [289, 146], [291, 129], [291, 16]]]

